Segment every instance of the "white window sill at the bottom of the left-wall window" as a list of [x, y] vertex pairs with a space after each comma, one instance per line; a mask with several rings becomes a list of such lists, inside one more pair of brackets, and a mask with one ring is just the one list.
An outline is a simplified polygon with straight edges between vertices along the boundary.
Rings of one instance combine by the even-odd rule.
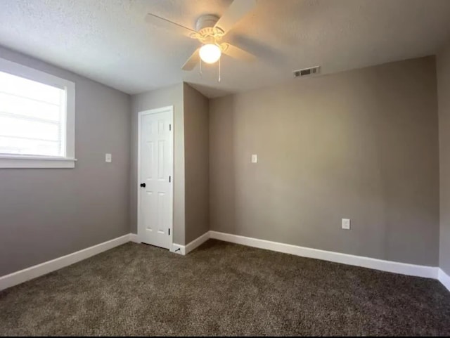
[[68, 157], [0, 155], [0, 168], [75, 168], [76, 161]]

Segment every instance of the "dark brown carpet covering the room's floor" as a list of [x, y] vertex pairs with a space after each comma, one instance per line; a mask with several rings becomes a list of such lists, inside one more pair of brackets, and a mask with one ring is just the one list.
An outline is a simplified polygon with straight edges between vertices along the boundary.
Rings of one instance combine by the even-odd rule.
[[436, 280], [210, 240], [127, 243], [0, 292], [1, 335], [449, 335]]

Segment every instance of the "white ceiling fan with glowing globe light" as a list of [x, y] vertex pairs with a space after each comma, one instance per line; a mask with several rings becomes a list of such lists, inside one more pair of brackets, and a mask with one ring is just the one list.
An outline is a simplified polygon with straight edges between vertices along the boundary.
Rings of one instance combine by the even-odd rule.
[[212, 14], [200, 16], [196, 22], [195, 30], [153, 13], [146, 15], [146, 22], [167, 25], [191, 39], [200, 41], [202, 46], [197, 48], [188, 58], [181, 67], [182, 70], [193, 70], [200, 60], [205, 63], [216, 63], [221, 58], [222, 53], [238, 60], [252, 61], [255, 60], [255, 56], [232, 44], [222, 42], [221, 39], [236, 22], [252, 11], [255, 5], [256, 0], [234, 0], [221, 18]]

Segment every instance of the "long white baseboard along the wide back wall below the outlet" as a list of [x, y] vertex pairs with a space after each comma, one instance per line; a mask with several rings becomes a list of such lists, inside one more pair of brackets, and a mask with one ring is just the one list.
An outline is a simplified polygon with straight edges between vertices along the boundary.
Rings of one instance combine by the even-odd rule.
[[249, 247], [258, 247], [285, 254], [294, 254], [296, 256], [322, 259], [323, 261], [333, 261], [335, 263], [361, 266], [364, 268], [373, 268], [375, 270], [387, 271], [392, 273], [401, 273], [402, 275], [413, 275], [417, 277], [426, 277], [437, 279], [438, 269], [435, 266], [420, 266], [415, 264], [399, 263], [396, 261], [384, 261], [383, 259], [374, 259], [364, 256], [354, 256], [352, 254], [341, 254], [339, 252], [330, 252], [309, 247], [299, 247], [269, 240], [258, 240], [257, 238], [231, 235], [229, 233], [219, 233], [210, 231], [210, 238], [224, 240]]

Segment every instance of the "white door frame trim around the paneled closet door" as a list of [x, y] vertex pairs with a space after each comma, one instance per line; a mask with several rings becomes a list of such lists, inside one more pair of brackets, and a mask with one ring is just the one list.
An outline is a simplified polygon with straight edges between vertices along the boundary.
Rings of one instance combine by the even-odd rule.
[[172, 247], [174, 244], [174, 106], [168, 105], [167, 107], [162, 108], [156, 108], [156, 109], [150, 109], [150, 110], [143, 110], [142, 112], [139, 112], [138, 116], [138, 181], [136, 182], [136, 188], [138, 189], [138, 208], [137, 208], [137, 214], [138, 214], [138, 241], [141, 241], [141, 235], [139, 234], [139, 229], [141, 228], [141, 217], [139, 215], [139, 211], [141, 210], [141, 188], [139, 187], [139, 184], [141, 184], [141, 120], [143, 115], [149, 115], [149, 114], [157, 114], [158, 112], [170, 112], [170, 115], [172, 117], [172, 137], [169, 138], [170, 143], [169, 147], [172, 151], [172, 167], [170, 168], [170, 173], [172, 176], [172, 188], [170, 189], [170, 194], [172, 197], [172, 204], [170, 204], [170, 216], [169, 216], [169, 251], [172, 251]]

